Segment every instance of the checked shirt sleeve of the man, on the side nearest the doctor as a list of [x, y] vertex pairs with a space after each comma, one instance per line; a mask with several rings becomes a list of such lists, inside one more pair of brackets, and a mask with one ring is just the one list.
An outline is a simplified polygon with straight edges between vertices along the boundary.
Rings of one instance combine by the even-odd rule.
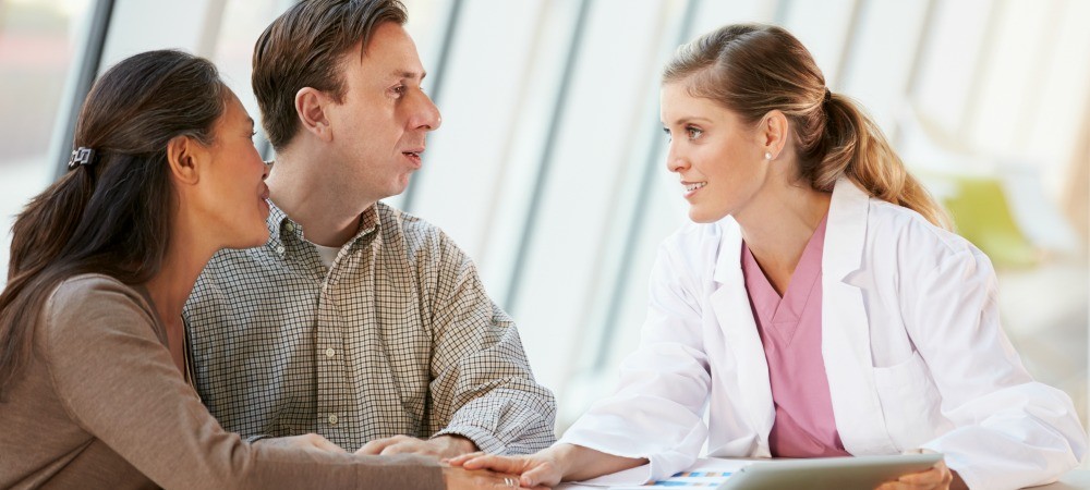
[[529, 454], [555, 440], [556, 400], [534, 380], [511, 318], [476, 268], [440, 233], [431, 305], [434, 436], [469, 438], [494, 454]]

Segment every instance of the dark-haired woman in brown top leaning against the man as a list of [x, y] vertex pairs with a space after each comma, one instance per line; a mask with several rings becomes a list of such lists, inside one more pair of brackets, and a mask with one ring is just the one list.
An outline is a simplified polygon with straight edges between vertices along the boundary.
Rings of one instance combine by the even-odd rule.
[[268, 240], [253, 131], [216, 68], [191, 54], [136, 54], [95, 84], [69, 173], [13, 228], [0, 487], [510, 488], [317, 434], [250, 444], [201, 404], [180, 316], [213, 254]]

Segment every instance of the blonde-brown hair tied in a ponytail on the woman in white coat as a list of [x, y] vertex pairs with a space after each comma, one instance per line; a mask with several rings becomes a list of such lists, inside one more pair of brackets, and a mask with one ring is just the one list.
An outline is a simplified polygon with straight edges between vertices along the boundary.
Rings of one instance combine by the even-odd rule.
[[850, 98], [825, 86], [818, 63], [791, 33], [772, 25], [735, 24], [678, 48], [663, 83], [685, 82], [705, 97], [756, 123], [771, 110], [791, 122], [798, 174], [818, 191], [832, 192], [847, 176], [871, 196], [949, 228], [949, 218], [905, 169], [879, 128]]

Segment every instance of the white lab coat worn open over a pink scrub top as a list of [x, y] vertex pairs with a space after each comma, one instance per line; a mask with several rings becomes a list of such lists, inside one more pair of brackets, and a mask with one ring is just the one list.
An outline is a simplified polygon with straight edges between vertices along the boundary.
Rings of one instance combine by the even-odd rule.
[[[986, 256], [847, 180], [826, 226], [821, 350], [849, 453], [937, 451], [972, 489], [1043, 483], [1078, 465], [1087, 433], [1070, 397], [1036, 382], [1003, 333]], [[775, 409], [738, 224], [669, 237], [650, 298], [617, 392], [561, 442], [646, 457], [651, 478], [692, 464], [705, 440], [710, 456], [770, 456]]]

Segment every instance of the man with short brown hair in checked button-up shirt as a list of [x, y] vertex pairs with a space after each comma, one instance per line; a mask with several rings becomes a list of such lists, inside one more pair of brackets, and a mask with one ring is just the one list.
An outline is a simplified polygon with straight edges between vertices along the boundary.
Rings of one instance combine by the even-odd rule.
[[449, 457], [554, 442], [514, 322], [437, 228], [379, 199], [439, 111], [397, 0], [304, 0], [262, 34], [270, 238], [217, 254], [184, 311], [201, 397], [261, 443]]

